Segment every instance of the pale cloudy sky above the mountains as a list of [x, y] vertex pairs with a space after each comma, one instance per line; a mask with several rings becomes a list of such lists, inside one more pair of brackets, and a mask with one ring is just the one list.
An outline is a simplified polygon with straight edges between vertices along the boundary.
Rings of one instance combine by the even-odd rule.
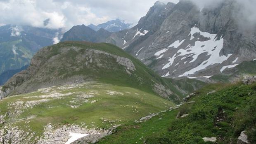
[[[178, 3], [179, 0], [160, 0]], [[0, 0], [0, 26], [66, 28], [113, 19], [136, 24], [156, 0]]]

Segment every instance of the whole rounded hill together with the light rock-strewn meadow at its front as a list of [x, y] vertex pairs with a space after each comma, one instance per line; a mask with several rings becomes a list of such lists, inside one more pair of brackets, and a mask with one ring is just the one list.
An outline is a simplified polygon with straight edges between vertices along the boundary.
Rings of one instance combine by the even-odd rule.
[[162, 78], [112, 44], [47, 46], [1, 88], [0, 143], [62, 144], [84, 134], [94, 142], [183, 101], [179, 89], [192, 83], [204, 85]]

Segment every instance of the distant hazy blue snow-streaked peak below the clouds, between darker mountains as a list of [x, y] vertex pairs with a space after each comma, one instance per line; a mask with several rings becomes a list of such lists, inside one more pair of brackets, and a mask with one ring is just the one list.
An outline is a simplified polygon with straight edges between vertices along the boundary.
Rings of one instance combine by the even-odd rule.
[[118, 32], [120, 30], [128, 29], [132, 26], [131, 23], [125, 23], [125, 21], [121, 21], [120, 19], [107, 21], [106, 23], [99, 24], [95, 26], [94, 24], [88, 25], [94, 31], [98, 31], [101, 28], [107, 30], [109, 32]]

